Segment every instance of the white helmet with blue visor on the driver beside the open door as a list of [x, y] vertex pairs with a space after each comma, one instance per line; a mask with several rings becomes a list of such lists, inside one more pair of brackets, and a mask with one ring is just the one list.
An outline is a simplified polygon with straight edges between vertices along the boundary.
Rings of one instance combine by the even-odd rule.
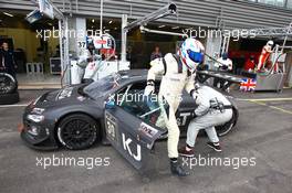
[[188, 69], [194, 71], [204, 61], [204, 50], [200, 41], [189, 37], [181, 44], [178, 54]]

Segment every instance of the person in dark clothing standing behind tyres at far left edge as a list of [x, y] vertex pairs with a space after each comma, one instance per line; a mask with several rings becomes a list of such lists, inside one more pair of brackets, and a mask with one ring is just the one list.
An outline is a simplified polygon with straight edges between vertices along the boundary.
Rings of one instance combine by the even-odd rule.
[[18, 66], [14, 61], [13, 51], [9, 50], [9, 45], [7, 42], [2, 43], [2, 49], [0, 51], [0, 69], [15, 78], [15, 71]]

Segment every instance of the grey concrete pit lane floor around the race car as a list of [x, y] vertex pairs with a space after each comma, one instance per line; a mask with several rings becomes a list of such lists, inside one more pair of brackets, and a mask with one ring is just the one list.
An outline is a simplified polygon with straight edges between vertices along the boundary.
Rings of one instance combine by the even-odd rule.
[[[83, 151], [29, 149], [17, 127], [24, 105], [44, 92], [21, 90], [19, 104], [0, 107], [1, 193], [292, 191], [292, 89], [282, 94], [233, 92], [240, 110], [236, 129], [221, 138], [222, 152], [212, 151], [206, 146], [207, 138], [199, 137], [195, 158], [181, 160], [190, 171], [187, 178], [170, 175], [165, 141], [156, 143], [155, 159], [149, 159], [153, 168], [145, 173], [137, 172], [109, 146]], [[180, 144], [184, 141], [180, 139]], [[44, 160], [53, 157], [81, 158], [87, 164], [44, 169]], [[96, 165], [91, 164], [92, 159], [97, 160]]]

